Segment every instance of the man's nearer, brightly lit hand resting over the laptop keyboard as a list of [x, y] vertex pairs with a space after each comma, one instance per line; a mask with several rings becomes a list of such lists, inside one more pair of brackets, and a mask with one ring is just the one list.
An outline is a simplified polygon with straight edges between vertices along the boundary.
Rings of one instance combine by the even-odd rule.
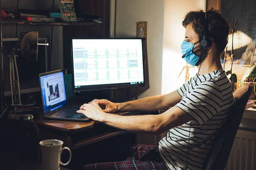
[[104, 111], [102, 111], [102, 108], [100, 108], [96, 102], [81, 105], [80, 110], [76, 112], [82, 113], [84, 116], [95, 121], [101, 121], [106, 114]]

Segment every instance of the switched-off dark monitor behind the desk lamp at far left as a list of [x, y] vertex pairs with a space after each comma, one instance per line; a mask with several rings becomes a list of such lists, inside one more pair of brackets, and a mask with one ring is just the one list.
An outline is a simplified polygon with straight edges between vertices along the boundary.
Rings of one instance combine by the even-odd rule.
[[[10, 64], [7, 55], [15, 45], [17, 38], [3, 38], [4, 96], [10, 96]], [[39, 38], [38, 43], [47, 43], [47, 38]], [[38, 45], [38, 60], [17, 57], [17, 68], [20, 79], [20, 94], [40, 91], [38, 75], [48, 71], [46, 45]]]

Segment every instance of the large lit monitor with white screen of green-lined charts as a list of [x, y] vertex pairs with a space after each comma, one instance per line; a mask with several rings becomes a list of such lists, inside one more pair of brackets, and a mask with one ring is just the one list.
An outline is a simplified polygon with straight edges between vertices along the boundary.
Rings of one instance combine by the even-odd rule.
[[73, 91], [144, 87], [140, 38], [72, 39]]

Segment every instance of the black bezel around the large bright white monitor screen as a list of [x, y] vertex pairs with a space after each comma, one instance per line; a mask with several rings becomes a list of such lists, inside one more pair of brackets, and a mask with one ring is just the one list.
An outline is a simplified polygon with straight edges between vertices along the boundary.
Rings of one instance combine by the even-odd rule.
[[[71, 56], [72, 56], [72, 87], [73, 92], [81, 91], [97, 91], [97, 90], [108, 90], [108, 89], [118, 89], [118, 88], [142, 88], [145, 87], [145, 52], [144, 52], [144, 40], [145, 38], [135, 38], [135, 37], [124, 37], [124, 38], [71, 38]], [[73, 61], [73, 40], [141, 40], [142, 43], [142, 62], [143, 62], [143, 83], [130, 84], [130, 83], [115, 83], [115, 84], [104, 84], [104, 85], [86, 85], [81, 88], [75, 88], [75, 77], [74, 77], [74, 61]]]

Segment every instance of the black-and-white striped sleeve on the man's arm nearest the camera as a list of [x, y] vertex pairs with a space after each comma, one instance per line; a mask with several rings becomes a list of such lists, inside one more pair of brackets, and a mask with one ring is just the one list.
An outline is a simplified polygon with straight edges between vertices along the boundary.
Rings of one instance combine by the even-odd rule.
[[176, 106], [192, 116], [200, 125], [221, 108], [221, 89], [215, 82], [205, 81], [187, 94]]

